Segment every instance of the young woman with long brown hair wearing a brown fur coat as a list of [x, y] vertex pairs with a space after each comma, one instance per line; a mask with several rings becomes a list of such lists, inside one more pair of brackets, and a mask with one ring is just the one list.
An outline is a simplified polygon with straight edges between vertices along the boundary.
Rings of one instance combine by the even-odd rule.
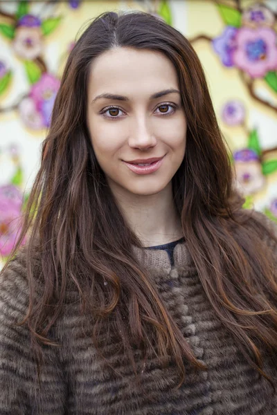
[[242, 203], [188, 41], [98, 17], [1, 275], [1, 415], [277, 414], [276, 234]]

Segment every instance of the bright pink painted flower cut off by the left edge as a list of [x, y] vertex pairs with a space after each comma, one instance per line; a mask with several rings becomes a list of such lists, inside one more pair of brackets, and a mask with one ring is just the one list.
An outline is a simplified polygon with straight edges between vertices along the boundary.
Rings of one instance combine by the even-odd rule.
[[0, 187], [0, 253], [10, 254], [21, 230], [22, 196], [17, 187]]

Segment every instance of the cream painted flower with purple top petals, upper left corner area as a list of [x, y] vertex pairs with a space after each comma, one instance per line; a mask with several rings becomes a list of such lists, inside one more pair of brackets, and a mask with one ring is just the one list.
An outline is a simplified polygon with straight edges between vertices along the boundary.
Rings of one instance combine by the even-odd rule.
[[25, 15], [17, 21], [13, 48], [17, 56], [32, 60], [42, 53], [42, 21], [33, 15]]

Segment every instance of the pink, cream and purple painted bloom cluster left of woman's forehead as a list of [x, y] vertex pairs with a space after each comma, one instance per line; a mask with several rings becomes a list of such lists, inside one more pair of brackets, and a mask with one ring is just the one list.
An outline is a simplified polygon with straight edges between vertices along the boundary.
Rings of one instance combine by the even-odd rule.
[[43, 73], [39, 81], [33, 84], [29, 96], [19, 105], [21, 118], [28, 127], [32, 129], [49, 127], [59, 88], [60, 80], [50, 73]]

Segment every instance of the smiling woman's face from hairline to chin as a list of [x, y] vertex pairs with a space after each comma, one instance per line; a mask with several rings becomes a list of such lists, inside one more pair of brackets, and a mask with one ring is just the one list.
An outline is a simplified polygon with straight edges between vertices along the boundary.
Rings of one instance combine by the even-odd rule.
[[91, 64], [87, 125], [113, 192], [157, 194], [170, 185], [186, 149], [178, 78], [159, 52], [117, 48]]

